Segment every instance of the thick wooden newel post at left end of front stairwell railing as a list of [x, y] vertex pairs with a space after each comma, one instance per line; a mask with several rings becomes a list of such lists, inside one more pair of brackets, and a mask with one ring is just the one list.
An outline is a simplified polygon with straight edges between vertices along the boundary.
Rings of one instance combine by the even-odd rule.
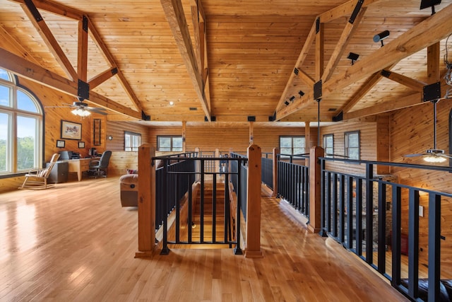
[[138, 148], [138, 252], [135, 257], [150, 257], [155, 248], [155, 147]]

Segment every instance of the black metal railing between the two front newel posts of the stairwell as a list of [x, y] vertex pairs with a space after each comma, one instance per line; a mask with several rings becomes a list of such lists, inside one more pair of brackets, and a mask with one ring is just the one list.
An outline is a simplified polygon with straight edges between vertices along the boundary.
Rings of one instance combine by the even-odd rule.
[[[232, 175], [237, 177], [237, 179], [241, 180], [242, 178], [246, 179], [246, 177], [242, 176], [242, 170], [239, 169], [237, 172], [230, 171], [227, 168], [230, 163], [238, 163], [238, 165], [242, 166], [244, 162], [247, 161], [247, 158], [215, 158], [215, 157], [188, 157], [188, 158], [174, 158], [174, 156], [157, 156], [153, 158], [154, 160], [160, 160], [164, 163], [162, 169], [159, 169], [159, 174], [156, 175], [157, 183], [160, 185], [161, 178], [161, 192], [157, 194], [156, 197], [156, 208], [157, 212], [160, 211], [160, 215], [162, 217], [162, 230], [163, 230], [163, 239], [162, 239], [162, 254], [167, 254], [169, 252], [168, 244], [178, 244], [178, 245], [196, 245], [196, 244], [227, 244], [232, 247], [234, 245], [234, 252], [236, 254], [242, 253], [242, 249], [240, 247], [240, 241], [237, 240], [238, 236], [233, 237], [232, 234], [240, 233], [240, 205], [244, 203], [242, 201], [243, 198], [246, 199], [246, 195], [240, 194], [244, 189], [244, 185], [246, 186], [246, 182], [239, 182], [234, 185], [234, 190], [239, 192], [237, 194], [237, 213], [230, 213], [230, 194], [229, 194], [229, 183]], [[172, 163], [176, 161], [175, 163]], [[225, 163], [223, 170], [212, 170], [210, 167], [213, 165], [218, 165], [219, 162]], [[209, 164], [206, 164], [209, 162]], [[196, 168], [198, 167], [199, 170]], [[207, 170], [206, 170], [207, 168]], [[161, 170], [161, 174], [160, 174]], [[156, 171], [157, 172], [157, 171]], [[209, 180], [206, 180], [209, 178]], [[193, 213], [194, 209], [194, 198], [193, 195], [193, 185], [195, 180], [199, 180], [200, 182], [200, 203], [199, 203], [199, 221], [196, 223], [196, 228], [199, 228], [199, 233], [196, 238], [194, 238], [194, 233], [192, 231], [191, 226], [194, 226]], [[222, 207], [224, 211], [222, 211], [223, 217], [220, 217], [217, 211], [217, 200], [218, 197], [218, 181], [221, 181], [224, 184], [224, 203]], [[206, 184], [212, 184], [212, 196], [207, 196], [206, 194]], [[159, 189], [156, 188], [156, 192], [159, 192]], [[181, 215], [182, 210], [182, 202], [184, 195], [187, 196], [188, 202], [186, 202], [186, 207], [188, 207], [188, 223], [184, 223], [184, 218]], [[206, 214], [205, 209], [209, 207], [210, 211]], [[169, 213], [174, 211], [174, 237], [168, 238], [168, 216]], [[234, 230], [232, 230], [232, 221], [231, 216], [235, 217], [234, 221]], [[218, 222], [222, 221], [224, 223], [223, 234], [221, 238], [218, 238], [217, 228]], [[188, 227], [187, 227], [188, 226]], [[182, 229], [187, 230], [187, 234], [182, 236]]]

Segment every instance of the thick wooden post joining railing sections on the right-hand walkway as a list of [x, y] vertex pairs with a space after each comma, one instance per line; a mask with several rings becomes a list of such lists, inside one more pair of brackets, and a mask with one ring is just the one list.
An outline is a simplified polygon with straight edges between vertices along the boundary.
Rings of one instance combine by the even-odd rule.
[[314, 146], [309, 152], [309, 223], [312, 233], [321, 231], [321, 164], [319, 157], [324, 155], [323, 148]]

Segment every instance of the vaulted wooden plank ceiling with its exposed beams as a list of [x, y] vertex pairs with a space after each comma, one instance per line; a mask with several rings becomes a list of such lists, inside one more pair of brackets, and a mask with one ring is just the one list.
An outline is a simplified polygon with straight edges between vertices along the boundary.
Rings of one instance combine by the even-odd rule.
[[[88, 83], [109, 120], [150, 122], [315, 122], [321, 80], [331, 122], [421, 103], [446, 71], [452, 33], [452, 0], [435, 10], [420, 0], [0, 0], [0, 67], [74, 100]], [[372, 38], [383, 30], [381, 47]]]

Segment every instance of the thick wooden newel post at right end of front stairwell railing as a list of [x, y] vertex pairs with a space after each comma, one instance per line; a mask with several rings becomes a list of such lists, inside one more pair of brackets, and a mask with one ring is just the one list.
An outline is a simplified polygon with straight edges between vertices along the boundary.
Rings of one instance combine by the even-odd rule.
[[261, 251], [261, 147], [248, 147], [246, 180], [246, 247], [245, 257], [262, 257]]

